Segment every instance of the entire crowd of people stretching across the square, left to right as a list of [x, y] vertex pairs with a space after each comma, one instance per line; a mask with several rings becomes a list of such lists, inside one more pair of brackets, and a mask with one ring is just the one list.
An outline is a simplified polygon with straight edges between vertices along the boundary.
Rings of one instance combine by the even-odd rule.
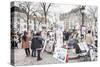
[[[21, 48], [25, 50], [25, 54], [27, 57], [30, 55], [32, 57], [37, 57], [37, 60], [42, 60], [41, 51], [46, 50], [47, 52], [54, 52], [55, 44], [56, 44], [56, 33], [53, 31], [48, 31], [47, 33], [42, 35], [43, 32], [32, 31], [29, 36], [28, 32], [24, 31], [23, 35], [18, 33], [11, 33], [11, 48], [18, 48], [18, 43], [21, 44]], [[75, 48], [76, 53], [81, 52], [77, 43], [81, 41], [85, 41], [87, 45], [94, 44], [97, 47], [97, 36], [93, 36], [91, 30], [85, 35], [79, 35], [77, 31], [69, 32], [63, 31], [63, 44], [68, 46], [68, 48]], [[46, 43], [45, 43], [46, 42]], [[49, 44], [46, 45], [45, 44]], [[31, 47], [30, 47], [31, 45]], [[31, 51], [30, 51], [31, 49]], [[32, 52], [30, 54], [30, 52]]]

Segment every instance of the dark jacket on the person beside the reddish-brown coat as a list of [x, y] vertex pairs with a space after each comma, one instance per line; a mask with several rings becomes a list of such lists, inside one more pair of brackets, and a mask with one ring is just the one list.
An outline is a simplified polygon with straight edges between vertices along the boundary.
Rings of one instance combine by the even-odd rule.
[[42, 48], [42, 39], [39, 37], [33, 37], [31, 43], [31, 49]]

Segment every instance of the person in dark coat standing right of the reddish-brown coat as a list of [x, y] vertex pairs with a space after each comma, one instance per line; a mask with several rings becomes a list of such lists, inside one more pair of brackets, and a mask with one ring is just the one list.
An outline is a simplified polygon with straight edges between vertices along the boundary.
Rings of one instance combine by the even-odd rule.
[[40, 33], [37, 33], [33, 39], [32, 39], [32, 44], [31, 44], [31, 49], [32, 49], [32, 56], [34, 53], [34, 57], [36, 57], [36, 51], [37, 51], [37, 60], [42, 60], [40, 57], [40, 53], [42, 50], [42, 39], [40, 38]]

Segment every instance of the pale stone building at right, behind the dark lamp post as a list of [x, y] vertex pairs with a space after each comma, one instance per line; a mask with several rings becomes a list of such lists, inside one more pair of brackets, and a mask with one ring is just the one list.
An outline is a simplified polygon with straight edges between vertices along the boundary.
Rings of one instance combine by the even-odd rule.
[[84, 16], [82, 16], [79, 7], [72, 9], [68, 13], [63, 13], [60, 15], [60, 20], [64, 22], [64, 28], [66, 30], [75, 29], [77, 27], [79, 27], [80, 29], [82, 25], [82, 18], [83, 18], [84, 26], [87, 29], [92, 29], [95, 27], [95, 19], [91, 15], [87, 14], [86, 12], [84, 12]]

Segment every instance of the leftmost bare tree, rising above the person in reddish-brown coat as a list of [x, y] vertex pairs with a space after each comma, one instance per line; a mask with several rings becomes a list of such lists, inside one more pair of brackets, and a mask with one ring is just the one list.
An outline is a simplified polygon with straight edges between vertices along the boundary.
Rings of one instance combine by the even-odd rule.
[[26, 14], [27, 31], [29, 30], [29, 20], [32, 13], [35, 13], [35, 9], [32, 2], [19, 2], [19, 7]]

